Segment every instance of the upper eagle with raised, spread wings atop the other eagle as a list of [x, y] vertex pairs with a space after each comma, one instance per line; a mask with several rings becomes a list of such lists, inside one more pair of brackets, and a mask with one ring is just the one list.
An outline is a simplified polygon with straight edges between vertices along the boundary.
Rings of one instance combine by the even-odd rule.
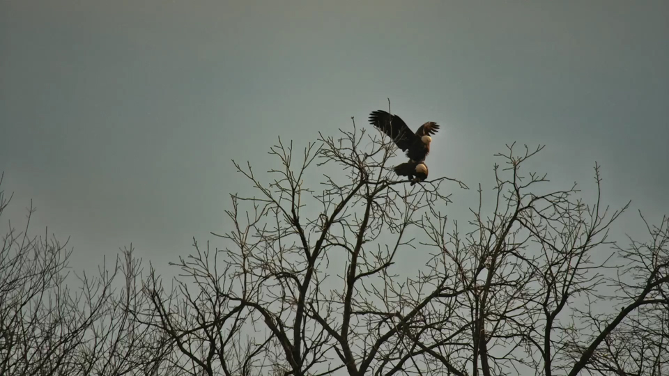
[[416, 132], [404, 123], [397, 115], [390, 115], [385, 111], [374, 111], [369, 114], [369, 123], [378, 130], [390, 136], [398, 148], [406, 152], [406, 156], [413, 162], [423, 162], [430, 152], [431, 134], [435, 134], [439, 125], [429, 121], [421, 125]]

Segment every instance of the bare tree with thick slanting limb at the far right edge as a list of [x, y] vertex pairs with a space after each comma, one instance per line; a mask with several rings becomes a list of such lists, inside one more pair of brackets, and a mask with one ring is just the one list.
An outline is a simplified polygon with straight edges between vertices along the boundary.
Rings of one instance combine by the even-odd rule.
[[[610, 301], [615, 310], [583, 313], [585, 345], [577, 346], [578, 363], [571, 370], [587, 369], [601, 375], [669, 374], [669, 218], [650, 226], [649, 241], [629, 238], [626, 248], [616, 246], [625, 263], [615, 278]], [[620, 309], [620, 311], [618, 311]], [[578, 368], [580, 367], [580, 368]]]

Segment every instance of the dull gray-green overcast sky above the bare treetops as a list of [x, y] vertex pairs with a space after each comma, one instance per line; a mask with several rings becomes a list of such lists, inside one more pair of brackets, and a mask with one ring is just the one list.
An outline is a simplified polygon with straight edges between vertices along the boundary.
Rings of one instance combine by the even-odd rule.
[[663, 0], [3, 0], [2, 233], [32, 198], [75, 268], [130, 242], [158, 265], [193, 236], [220, 246], [208, 233], [249, 187], [230, 159], [266, 171], [277, 136], [368, 127], [386, 97], [443, 125], [431, 178], [491, 187], [505, 143], [546, 143], [535, 165], [560, 187], [603, 166], [635, 233], [636, 210], [669, 212], [667, 19]]

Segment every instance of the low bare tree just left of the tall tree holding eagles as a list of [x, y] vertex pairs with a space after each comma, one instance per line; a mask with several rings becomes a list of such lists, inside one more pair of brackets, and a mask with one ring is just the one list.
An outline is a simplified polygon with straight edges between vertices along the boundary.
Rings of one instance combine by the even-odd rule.
[[230, 266], [219, 270], [217, 253], [210, 256], [197, 242], [194, 249], [194, 255], [171, 264], [181, 274], [170, 290], [151, 268], [142, 288], [149, 303], [134, 311], [134, 318], [164, 337], [162, 348], [169, 352], [165, 359], [180, 375], [265, 375], [268, 365], [261, 357], [274, 337], [241, 331], [253, 326], [253, 318], [227, 296], [233, 288], [228, 282]]

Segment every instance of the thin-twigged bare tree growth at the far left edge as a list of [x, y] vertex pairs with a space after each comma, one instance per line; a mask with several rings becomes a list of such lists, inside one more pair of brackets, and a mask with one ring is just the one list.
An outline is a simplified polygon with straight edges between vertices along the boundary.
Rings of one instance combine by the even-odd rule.
[[[11, 199], [3, 193], [0, 216]], [[67, 242], [29, 235], [34, 211], [31, 205], [22, 231], [10, 222], [0, 249], [0, 375], [167, 374], [160, 333], [130, 315], [144, 305], [132, 252], [97, 275], [70, 276]], [[125, 284], [117, 293], [119, 272]]]

